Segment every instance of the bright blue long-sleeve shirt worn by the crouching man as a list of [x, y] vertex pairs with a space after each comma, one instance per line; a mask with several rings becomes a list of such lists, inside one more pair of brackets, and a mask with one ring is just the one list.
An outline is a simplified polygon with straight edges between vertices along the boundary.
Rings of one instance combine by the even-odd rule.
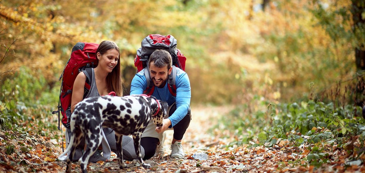
[[[171, 121], [171, 126], [169, 126], [169, 128], [171, 128], [180, 122], [188, 113], [191, 98], [188, 74], [176, 67], [176, 97], [171, 95], [167, 85], [168, 82], [166, 82], [163, 88], [155, 87], [152, 96], [167, 102], [169, 106], [176, 102], [176, 111], [169, 117]], [[144, 70], [141, 70], [132, 79], [130, 94], [143, 94], [146, 87], [147, 80]]]

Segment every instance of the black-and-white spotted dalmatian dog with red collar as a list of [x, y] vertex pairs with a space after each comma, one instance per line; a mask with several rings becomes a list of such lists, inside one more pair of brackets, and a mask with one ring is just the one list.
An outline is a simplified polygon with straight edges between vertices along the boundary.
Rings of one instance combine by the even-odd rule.
[[99, 147], [103, 136], [102, 127], [109, 127], [115, 132], [117, 146], [117, 159], [119, 168], [126, 168], [123, 160], [122, 137], [132, 135], [137, 161], [143, 168], [150, 168], [142, 160], [140, 152], [141, 135], [146, 129], [150, 119], [157, 127], [162, 126], [162, 120], [166, 116], [168, 104], [157, 100], [153, 96], [129, 95], [125, 97], [101, 96], [84, 99], [77, 103], [71, 115], [71, 138], [70, 145], [60, 157], [70, 151], [66, 162], [66, 172], [71, 172], [71, 161], [76, 146], [85, 136], [86, 150], [80, 160], [82, 172], [87, 172], [89, 158]]

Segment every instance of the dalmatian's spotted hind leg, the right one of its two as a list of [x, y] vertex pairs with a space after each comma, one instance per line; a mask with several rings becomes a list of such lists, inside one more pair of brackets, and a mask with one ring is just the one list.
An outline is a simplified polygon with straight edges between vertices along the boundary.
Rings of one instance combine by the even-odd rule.
[[83, 133], [85, 134], [86, 150], [82, 157], [78, 160], [80, 163], [83, 173], [86, 173], [86, 167], [89, 162], [89, 158], [96, 152], [99, 148], [101, 140], [103, 140], [103, 134], [101, 125], [96, 126], [95, 129], [85, 129]]

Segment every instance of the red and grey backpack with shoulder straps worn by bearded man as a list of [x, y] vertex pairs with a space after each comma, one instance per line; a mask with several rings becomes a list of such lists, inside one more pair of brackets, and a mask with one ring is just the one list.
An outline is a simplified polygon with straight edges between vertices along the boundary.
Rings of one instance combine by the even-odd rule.
[[[150, 77], [148, 59], [150, 55], [156, 49], [162, 49], [168, 51], [172, 57], [172, 72], [169, 76], [168, 89], [170, 93], [176, 97], [176, 67], [185, 71], [186, 57], [181, 54], [180, 50], [176, 48], [177, 40], [172, 35], [160, 35], [150, 34], [146, 36], [141, 43], [141, 48], [137, 50], [136, 58], [134, 59], [134, 66], [137, 67], [137, 72], [144, 69], [144, 73], [147, 79], [147, 88], [143, 91], [143, 94], [152, 95], [154, 91], [154, 85]], [[147, 67], [147, 68], [146, 68]]]

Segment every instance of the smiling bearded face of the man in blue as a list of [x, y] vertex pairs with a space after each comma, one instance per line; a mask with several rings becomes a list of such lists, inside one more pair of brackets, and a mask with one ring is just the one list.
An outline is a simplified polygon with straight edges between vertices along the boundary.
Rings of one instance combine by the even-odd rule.
[[171, 74], [172, 67], [170, 69], [165, 67], [156, 67], [154, 62], [150, 63], [150, 75], [152, 82], [155, 86], [163, 88], [166, 84], [168, 76]]

